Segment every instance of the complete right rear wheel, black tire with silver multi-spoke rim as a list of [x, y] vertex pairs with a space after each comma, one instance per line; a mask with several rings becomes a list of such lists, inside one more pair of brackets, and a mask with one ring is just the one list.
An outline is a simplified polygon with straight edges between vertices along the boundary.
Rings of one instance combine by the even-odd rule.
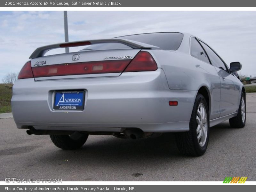
[[197, 94], [189, 122], [189, 131], [176, 133], [177, 147], [183, 155], [201, 156], [209, 140], [209, 110], [202, 94]]

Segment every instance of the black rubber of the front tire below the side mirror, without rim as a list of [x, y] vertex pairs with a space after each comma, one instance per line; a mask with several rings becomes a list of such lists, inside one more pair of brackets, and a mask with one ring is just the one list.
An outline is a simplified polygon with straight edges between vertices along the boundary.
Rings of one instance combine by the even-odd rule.
[[[241, 110], [243, 99], [244, 99], [244, 111], [245, 111], [244, 121], [242, 119], [242, 110]], [[245, 126], [245, 122], [246, 122], [246, 102], [245, 102], [245, 94], [244, 92], [242, 92], [237, 116], [230, 118], [229, 124], [231, 127], [234, 127], [234, 128], [243, 128]]]

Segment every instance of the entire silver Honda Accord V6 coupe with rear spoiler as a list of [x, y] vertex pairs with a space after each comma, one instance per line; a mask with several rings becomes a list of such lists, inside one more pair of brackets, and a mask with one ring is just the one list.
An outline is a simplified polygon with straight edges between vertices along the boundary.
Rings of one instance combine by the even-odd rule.
[[[44, 56], [52, 49], [79, 52]], [[163, 32], [52, 44], [37, 48], [13, 86], [19, 129], [50, 135], [62, 149], [77, 149], [88, 135], [145, 138], [175, 132], [180, 152], [201, 156], [210, 127], [229, 119], [242, 128], [245, 89], [204, 41]]]

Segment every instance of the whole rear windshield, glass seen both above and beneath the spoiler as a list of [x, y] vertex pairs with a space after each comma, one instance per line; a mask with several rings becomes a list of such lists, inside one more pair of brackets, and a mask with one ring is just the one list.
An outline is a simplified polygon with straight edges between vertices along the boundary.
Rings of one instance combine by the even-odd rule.
[[[138, 35], [129, 35], [115, 37], [120, 39], [128, 39], [155, 45], [160, 49], [165, 50], [177, 50], [181, 44], [183, 34], [181, 33], [146, 33]], [[132, 49], [131, 47], [121, 43], [99, 43], [87, 45], [81, 51], [93, 51], [93, 50], [111, 50], [111, 49]]]

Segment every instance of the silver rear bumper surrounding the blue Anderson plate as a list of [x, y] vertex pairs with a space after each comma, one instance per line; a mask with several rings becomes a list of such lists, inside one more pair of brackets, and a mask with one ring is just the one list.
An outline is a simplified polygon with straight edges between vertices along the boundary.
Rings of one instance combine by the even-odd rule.
[[[85, 90], [84, 110], [54, 110], [53, 93], [60, 90]], [[195, 97], [196, 91], [170, 90], [160, 68], [106, 78], [20, 79], [13, 86], [12, 113], [18, 128], [184, 132], [189, 130]], [[169, 100], [177, 100], [178, 106], [169, 106]]]

